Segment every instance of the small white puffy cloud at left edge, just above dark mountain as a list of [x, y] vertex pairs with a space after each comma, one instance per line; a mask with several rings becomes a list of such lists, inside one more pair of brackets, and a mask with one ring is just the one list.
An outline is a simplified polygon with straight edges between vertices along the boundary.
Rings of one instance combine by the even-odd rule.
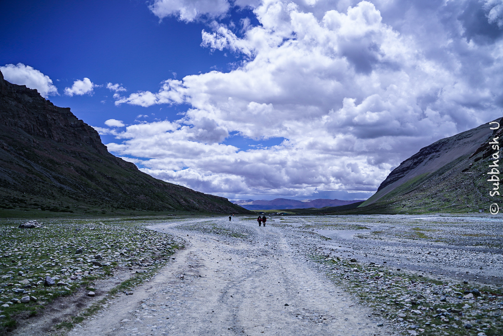
[[6, 64], [5, 66], [0, 66], [0, 71], [2, 71], [7, 81], [17, 85], [26, 85], [30, 89], [36, 89], [42, 97], [47, 98], [48, 96], [58, 94], [58, 89], [52, 85], [51, 78], [29, 65], [23, 63], [16, 65]]

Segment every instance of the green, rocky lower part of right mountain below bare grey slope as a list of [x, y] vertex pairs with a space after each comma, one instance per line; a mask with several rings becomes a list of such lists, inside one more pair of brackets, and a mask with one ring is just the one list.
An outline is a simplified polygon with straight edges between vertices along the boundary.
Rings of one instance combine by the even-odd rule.
[[[376, 197], [379, 196], [376, 193], [357, 211], [348, 213], [466, 213], [478, 212], [478, 209], [488, 212], [491, 204], [501, 202], [500, 196], [489, 195], [495, 186], [487, 181], [491, 176], [487, 174], [491, 170], [489, 165], [494, 164], [492, 154], [501, 155], [501, 150], [492, 149], [488, 142], [494, 137], [501, 137], [503, 128], [487, 132], [489, 125], [482, 126], [486, 127], [483, 130], [486, 136], [480, 139], [475, 150], [459, 155], [433, 172], [409, 179], [402, 177], [405, 181], [400, 181], [385, 195]], [[430, 159], [425, 157], [420, 163]], [[498, 169], [503, 172], [501, 167]], [[503, 206], [503, 202], [499, 206]]]

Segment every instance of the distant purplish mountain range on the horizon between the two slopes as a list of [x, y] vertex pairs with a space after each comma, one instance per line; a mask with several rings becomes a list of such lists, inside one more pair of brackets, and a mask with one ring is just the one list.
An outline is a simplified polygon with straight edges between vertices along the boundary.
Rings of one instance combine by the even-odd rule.
[[232, 203], [242, 206], [248, 210], [273, 210], [273, 209], [307, 209], [307, 208], [324, 208], [336, 207], [339, 205], [347, 205], [364, 200], [343, 201], [343, 200], [329, 200], [318, 198], [315, 200], [290, 200], [286, 198], [276, 198], [272, 201], [268, 200], [240, 200], [233, 201]]

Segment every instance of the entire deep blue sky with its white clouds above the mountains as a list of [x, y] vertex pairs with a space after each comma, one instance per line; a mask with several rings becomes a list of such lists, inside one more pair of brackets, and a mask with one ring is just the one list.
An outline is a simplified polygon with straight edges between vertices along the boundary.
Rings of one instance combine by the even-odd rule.
[[229, 199], [370, 197], [502, 115], [496, 0], [16, 1], [0, 69], [156, 178]]

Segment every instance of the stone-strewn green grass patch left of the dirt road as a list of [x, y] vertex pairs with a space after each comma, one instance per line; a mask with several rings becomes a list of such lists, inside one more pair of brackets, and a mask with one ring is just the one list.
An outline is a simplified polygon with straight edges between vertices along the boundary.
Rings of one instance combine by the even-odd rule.
[[[149, 267], [134, 277], [137, 283], [151, 276], [151, 270], [164, 265], [183, 247], [179, 238], [145, 229], [146, 224], [156, 221], [166, 219], [150, 219], [148, 223], [145, 218], [50, 219], [40, 220], [40, 227], [31, 229], [18, 228], [26, 220], [0, 220], [0, 301], [24, 296], [38, 299], [2, 307], [1, 314], [6, 317], [0, 321], [0, 334], [18, 318], [42, 312], [54, 299], [79, 287], [91, 288], [93, 281], [112, 276], [116, 268]], [[82, 251], [77, 251], [79, 248]], [[97, 255], [101, 259], [95, 258]], [[102, 266], [94, 265], [96, 262]], [[46, 276], [63, 284], [44, 286]]]

